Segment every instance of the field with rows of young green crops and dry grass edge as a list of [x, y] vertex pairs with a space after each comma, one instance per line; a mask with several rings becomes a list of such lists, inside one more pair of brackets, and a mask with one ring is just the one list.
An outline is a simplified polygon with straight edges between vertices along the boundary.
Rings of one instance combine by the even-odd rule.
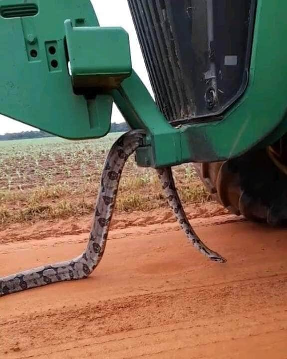
[[[0, 142], [0, 223], [81, 216], [93, 211], [108, 150], [120, 134], [99, 140], [59, 138]], [[185, 203], [210, 198], [191, 165], [174, 169]], [[124, 169], [116, 211], [166, 206], [156, 172], [136, 166]]]

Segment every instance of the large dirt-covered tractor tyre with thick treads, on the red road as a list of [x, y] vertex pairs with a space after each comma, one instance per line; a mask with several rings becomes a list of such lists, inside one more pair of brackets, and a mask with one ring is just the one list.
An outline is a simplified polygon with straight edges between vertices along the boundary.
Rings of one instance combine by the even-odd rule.
[[273, 226], [287, 224], [287, 159], [278, 146], [226, 162], [194, 164], [212, 194], [230, 212]]

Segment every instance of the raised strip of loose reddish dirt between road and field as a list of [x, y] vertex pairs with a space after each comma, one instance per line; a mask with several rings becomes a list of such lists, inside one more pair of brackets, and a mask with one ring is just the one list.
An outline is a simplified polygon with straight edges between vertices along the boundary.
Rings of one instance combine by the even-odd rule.
[[[228, 211], [217, 202], [206, 202], [187, 206], [186, 213], [189, 219], [200, 223], [212, 218], [226, 222], [242, 220], [242, 217], [226, 215]], [[115, 213], [111, 229], [126, 229], [130, 227], [145, 228], [150, 225], [175, 223], [176, 218], [169, 208], [151, 210], [149, 212], [134, 211], [132, 213]], [[77, 235], [90, 230], [92, 214], [80, 218], [69, 218], [57, 221], [37, 221], [36, 223], [17, 223], [0, 231], [0, 243], [23, 242], [27, 240], [41, 240], [48, 237], [62, 237]]]

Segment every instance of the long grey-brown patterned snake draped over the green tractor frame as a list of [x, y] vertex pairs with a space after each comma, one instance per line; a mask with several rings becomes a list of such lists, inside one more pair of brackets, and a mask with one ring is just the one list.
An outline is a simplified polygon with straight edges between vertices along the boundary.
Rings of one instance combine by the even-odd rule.
[[[112, 146], [105, 162], [86, 250], [72, 260], [0, 278], [0, 296], [50, 283], [84, 279], [93, 272], [104, 254], [123, 167], [130, 155], [143, 145], [144, 138], [144, 131], [134, 130], [121, 136]], [[226, 260], [210, 250], [189, 224], [174, 184], [171, 168], [162, 168], [157, 172], [169, 204], [190, 242], [209, 259], [224, 263]]]

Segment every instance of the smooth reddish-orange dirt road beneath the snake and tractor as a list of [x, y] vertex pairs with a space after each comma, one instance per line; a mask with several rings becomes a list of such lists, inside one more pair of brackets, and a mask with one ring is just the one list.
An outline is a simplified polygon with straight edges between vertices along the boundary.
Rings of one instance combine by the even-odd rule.
[[[286, 359], [287, 231], [196, 229], [228, 263], [175, 223], [130, 227], [111, 232], [89, 279], [0, 298], [0, 358]], [[0, 276], [75, 256], [86, 238], [0, 244]]]

